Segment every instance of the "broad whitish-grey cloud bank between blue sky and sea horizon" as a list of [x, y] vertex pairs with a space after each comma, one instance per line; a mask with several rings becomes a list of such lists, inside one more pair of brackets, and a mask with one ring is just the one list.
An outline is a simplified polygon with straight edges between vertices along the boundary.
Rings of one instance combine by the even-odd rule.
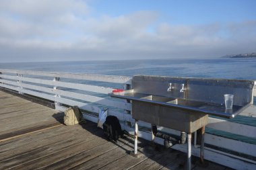
[[82, 0], [0, 1], [1, 58], [207, 57], [256, 49], [256, 21], [187, 26], [160, 23], [156, 11], [93, 17], [91, 10]]

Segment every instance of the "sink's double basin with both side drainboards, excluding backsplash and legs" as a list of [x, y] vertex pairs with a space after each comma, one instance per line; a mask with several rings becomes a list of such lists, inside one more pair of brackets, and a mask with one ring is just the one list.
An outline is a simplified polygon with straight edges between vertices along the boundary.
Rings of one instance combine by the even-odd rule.
[[232, 110], [226, 110], [223, 104], [134, 93], [133, 89], [110, 93], [110, 96], [132, 101], [132, 117], [135, 120], [187, 133], [207, 125], [208, 115], [233, 118], [245, 108], [233, 105]]

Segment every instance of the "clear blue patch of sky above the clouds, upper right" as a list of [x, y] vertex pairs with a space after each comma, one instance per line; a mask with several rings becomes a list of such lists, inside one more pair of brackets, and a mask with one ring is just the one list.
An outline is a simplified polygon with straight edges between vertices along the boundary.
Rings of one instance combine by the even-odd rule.
[[94, 1], [96, 15], [113, 17], [135, 11], [157, 11], [160, 21], [172, 24], [210, 24], [213, 22], [243, 22], [256, 19], [256, 1]]

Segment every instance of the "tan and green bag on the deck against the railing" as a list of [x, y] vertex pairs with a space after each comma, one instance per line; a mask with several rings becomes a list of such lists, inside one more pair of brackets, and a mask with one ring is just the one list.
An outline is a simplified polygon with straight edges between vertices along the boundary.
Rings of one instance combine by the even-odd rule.
[[77, 105], [68, 108], [64, 113], [64, 124], [74, 125], [85, 122], [82, 112]]

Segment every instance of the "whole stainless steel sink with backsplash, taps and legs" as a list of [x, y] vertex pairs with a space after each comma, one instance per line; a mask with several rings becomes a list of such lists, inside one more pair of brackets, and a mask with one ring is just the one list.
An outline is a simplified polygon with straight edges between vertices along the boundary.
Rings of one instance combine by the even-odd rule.
[[[137, 120], [143, 120], [152, 127], [159, 125], [187, 132], [187, 167], [191, 169], [191, 133], [201, 128], [200, 157], [203, 160], [208, 115], [234, 118], [241, 113], [253, 103], [254, 81], [139, 75], [133, 77], [132, 87], [121, 93], [110, 93], [110, 96], [132, 103], [134, 154], [137, 154]], [[224, 94], [234, 95], [232, 110], [226, 110]]]

